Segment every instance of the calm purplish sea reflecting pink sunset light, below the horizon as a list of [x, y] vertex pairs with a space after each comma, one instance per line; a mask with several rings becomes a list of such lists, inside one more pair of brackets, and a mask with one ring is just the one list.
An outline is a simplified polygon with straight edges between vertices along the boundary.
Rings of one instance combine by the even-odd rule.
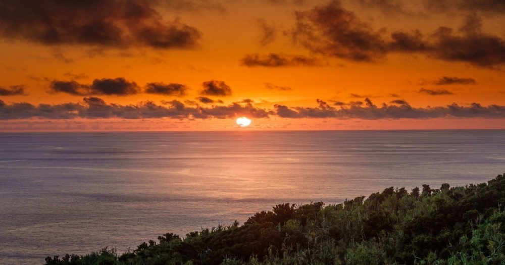
[[0, 134], [0, 264], [120, 252], [291, 202], [485, 182], [505, 131]]

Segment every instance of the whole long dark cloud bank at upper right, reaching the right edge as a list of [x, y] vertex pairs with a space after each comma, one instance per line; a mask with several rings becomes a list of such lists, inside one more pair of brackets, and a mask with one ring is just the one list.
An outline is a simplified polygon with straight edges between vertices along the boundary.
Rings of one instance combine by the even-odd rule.
[[499, 69], [505, 64], [505, 38], [484, 33], [481, 28], [481, 19], [474, 14], [458, 31], [439, 27], [426, 36], [419, 30], [396, 31], [387, 36], [385, 29], [375, 31], [355, 13], [342, 8], [340, 2], [333, 1], [296, 12], [292, 36], [315, 54], [356, 62], [377, 62], [391, 52], [401, 52]]

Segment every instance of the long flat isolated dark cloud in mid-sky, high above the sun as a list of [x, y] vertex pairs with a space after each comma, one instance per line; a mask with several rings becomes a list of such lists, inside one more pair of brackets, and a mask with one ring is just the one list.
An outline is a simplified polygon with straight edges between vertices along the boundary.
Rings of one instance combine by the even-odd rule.
[[248, 54], [241, 59], [247, 67], [287, 67], [287, 66], [319, 66], [321, 63], [314, 57], [284, 54]]

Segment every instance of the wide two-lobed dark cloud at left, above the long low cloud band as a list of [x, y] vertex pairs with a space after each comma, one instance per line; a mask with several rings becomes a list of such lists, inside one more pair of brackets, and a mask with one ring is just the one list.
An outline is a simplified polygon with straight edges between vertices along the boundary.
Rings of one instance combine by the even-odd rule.
[[95, 79], [92, 84], [80, 84], [77, 81], [54, 80], [49, 84], [52, 92], [71, 95], [118, 95], [126, 96], [138, 93], [138, 85], [123, 77]]

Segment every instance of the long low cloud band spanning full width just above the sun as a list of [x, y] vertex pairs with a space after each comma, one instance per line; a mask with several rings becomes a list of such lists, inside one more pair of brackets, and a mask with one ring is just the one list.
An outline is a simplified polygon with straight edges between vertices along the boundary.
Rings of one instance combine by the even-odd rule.
[[335, 108], [318, 99], [317, 107], [288, 107], [276, 104], [273, 110], [257, 108], [252, 101], [234, 102], [229, 105], [213, 105], [203, 108], [198, 105], [189, 107], [178, 100], [164, 101], [158, 105], [153, 101], [138, 104], [121, 105], [107, 103], [98, 97], [85, 97], [80, 103], [39, 104], [11, 103], [0, 100], [0, 120], [42, 118], [42, 119], [228, 119], [240, 116], [249, 118], [336, 118], [336, 119], [431, 119], [431, 118], [498, 118], [505, 119], [505, 106], [479, 103], [458, 105], [452, 103], [441, 107], [413, 108], [407, 102], [382, 103], [377, 107], [370, 99], [365, 104], [348, 102]]

